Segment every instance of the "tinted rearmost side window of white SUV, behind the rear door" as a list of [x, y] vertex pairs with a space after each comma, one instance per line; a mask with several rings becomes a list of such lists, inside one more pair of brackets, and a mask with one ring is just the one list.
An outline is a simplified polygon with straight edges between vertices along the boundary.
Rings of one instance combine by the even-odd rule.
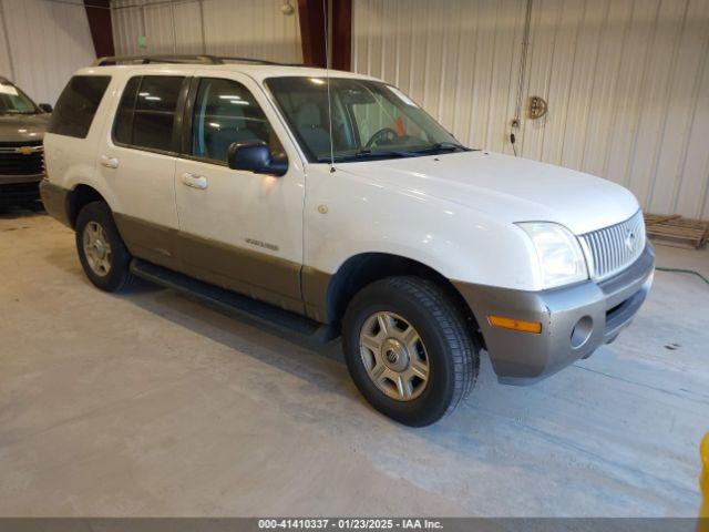
[[48, 131], [85, 139], [110, 82], [109, 75], [73, 76], [59, 96]]

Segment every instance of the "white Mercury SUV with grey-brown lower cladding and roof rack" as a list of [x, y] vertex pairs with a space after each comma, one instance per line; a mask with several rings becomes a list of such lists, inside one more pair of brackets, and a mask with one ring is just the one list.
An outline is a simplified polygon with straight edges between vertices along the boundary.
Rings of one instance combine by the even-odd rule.
[[654, 250], [616, 184], [464, 147], [372, 78], [107, 64], [125, 60], [76, 72], [44, 137], [45, 207], [99, 288], [144, 277], [341, 331], [360, 391], [411, 426], [455, 408], [482, 349], [502, 382], [532, 382], [615, 339], [647, 295]]

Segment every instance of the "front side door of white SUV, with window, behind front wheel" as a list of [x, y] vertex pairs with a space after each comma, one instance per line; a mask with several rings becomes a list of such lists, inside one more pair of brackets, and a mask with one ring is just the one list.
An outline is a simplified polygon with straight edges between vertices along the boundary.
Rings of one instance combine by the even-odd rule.
[[[302, 311], [302, 164], [261, 89], [234, 72], [197, 72], [184, 120], [175, 173], [183, 269]], [[255, 140], [288, 158], [285, 175], [227, 166], [229, 144]]]

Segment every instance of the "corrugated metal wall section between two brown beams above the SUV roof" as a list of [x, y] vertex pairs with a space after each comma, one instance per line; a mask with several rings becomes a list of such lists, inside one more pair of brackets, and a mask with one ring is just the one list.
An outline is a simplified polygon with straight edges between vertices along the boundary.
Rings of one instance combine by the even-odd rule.
[[[298, 12], [282, 0], [113, 0], [116, 53], [212, 53], [301, 62]], [[140, 47], [138, 37], [146, 37]]]

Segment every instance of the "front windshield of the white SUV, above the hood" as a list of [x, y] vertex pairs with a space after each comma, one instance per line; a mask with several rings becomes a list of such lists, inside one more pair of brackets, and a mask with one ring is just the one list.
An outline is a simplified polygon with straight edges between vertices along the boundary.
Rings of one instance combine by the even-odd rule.
[[394, 86], [351, 78], [270, 78], [266, 85], [310, 162], [395, 158], [467, 151]]

